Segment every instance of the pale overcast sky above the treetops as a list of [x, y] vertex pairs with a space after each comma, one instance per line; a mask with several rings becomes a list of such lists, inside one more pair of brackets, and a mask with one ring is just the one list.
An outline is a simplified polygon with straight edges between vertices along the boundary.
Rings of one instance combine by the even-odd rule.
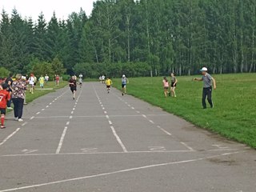
[[16, 8], [22, 18], [32, 17], [34, 21], [42, 12], [46, 20], [49, 21], [54, 11], [57, 18], [66, 19], [69, 14], [78, 12], [81, 7], [88, 16], [93, 9], [93, 2], [95, 0], [0, 0], [0, 9], [1, 12], [4, 9], [8, 14], [11, 14], [11, 11]]

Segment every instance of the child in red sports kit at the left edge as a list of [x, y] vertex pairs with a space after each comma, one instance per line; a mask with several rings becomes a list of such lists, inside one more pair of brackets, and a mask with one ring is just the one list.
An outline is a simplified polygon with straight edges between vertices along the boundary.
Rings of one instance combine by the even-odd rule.
[[2, 84], [2, 90], [0, 90], [0, 113], [1, 113], [1, 129], [6, 128], [5, 123], [5, 114], [6, 114], [6, 105], [7, 101], [10, 100], [10, 93], [6, 90], [8, 85], [6, 83]]

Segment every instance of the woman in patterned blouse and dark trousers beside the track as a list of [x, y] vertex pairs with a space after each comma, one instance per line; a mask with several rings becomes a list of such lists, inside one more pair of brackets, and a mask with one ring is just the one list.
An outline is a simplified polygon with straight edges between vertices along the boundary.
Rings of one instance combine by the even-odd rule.
[[13, 82], [13, 103], [14, 103], [14, 118], [18, 122], [23, 122], [23, 104], [25, 98], [26, 82], [22, 81], [22, 74], [16, 75], [16, 81]]

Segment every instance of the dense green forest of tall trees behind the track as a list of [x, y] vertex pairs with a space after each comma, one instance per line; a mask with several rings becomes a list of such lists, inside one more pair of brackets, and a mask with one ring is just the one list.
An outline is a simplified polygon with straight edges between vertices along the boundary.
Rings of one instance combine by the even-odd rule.
[[46, 22], [2, 10], [0, 66], [13, 73], [130, 77], [256, 72], [254, 0], [100, 0]]

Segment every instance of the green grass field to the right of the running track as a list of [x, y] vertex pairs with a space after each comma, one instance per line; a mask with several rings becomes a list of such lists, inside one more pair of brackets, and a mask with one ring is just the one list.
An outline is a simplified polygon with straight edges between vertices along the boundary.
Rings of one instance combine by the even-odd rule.
[[[130, 78], [127, 91], [196, 126], [256, 148], [256, 75], [214, 75], [214, 109], [207, 110], [202, 110], [202, 82], [192, 78], [178, 77], [178, 98], [164, 98], [162, 78]], [[121, 89], [120, 79], [114, 79], [114, 86]]]

